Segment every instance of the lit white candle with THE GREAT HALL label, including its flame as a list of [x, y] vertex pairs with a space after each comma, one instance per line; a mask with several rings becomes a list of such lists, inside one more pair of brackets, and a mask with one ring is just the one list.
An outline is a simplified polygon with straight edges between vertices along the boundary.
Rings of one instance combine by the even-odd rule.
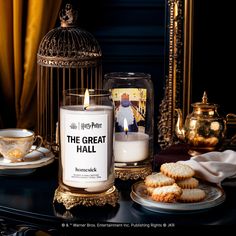
[[99, 192], [112, 187], [113, 107], [83, 105], [60, 108], [60, 147], [64, 184]]

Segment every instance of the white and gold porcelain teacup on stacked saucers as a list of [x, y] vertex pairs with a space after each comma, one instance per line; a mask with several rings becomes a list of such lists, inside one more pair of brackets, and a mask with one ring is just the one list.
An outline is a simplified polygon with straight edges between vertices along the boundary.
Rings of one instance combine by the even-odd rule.
[[31, 149], [32, 145], [37, 141], [36, 149], [40, 148], [43, 138], [36, 135], [32, 130], [28, 129], [0, 129], [0, 153], [4, 160], [8, 162], [20, 162], [23, 158], [35, 149]]

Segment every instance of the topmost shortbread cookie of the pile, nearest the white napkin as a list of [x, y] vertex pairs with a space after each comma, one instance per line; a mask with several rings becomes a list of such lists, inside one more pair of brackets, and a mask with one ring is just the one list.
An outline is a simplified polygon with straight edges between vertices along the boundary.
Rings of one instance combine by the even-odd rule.
[[191, 178], [195, 174], [190, 166], [174, 162], [162, 164], [160, 170], [164, 175], [175, 180]]

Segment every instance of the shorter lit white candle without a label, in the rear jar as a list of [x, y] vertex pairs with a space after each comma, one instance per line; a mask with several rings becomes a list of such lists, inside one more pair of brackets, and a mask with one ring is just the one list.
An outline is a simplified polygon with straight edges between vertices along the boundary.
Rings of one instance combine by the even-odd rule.
[[124, 132], [115, 133], [114, 157], [115, 162], [137, 162], [149, 156], [149, 135], [141, 132], [128, 132], [124, 119]]

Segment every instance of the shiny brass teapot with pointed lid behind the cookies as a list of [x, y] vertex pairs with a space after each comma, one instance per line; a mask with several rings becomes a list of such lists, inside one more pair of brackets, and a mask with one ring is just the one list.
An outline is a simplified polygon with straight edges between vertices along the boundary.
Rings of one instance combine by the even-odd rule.
[[189, 145], [192, 156], [217, 150], [225, 138], [226, 120], [219, 116], [217, 104], [208, 103], [204, 92], [202, 102], [192, 104], [193, 112], [187, 115], [183, 126], [182, 112], [178, 114], [175, 133], [177, 137]]

